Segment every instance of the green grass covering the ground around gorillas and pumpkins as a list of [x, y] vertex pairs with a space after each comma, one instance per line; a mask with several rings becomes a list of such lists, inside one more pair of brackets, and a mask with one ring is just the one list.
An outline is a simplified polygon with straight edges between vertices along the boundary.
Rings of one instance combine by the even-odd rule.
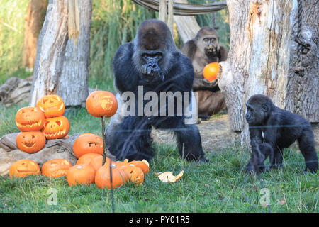
[[[14, 116], [22, 106], [0, 106], [0, 136], [18, 131]], [[71, 124], [70, 134], [101, 135], [100, 119], [90, 116], [86, 109], [69, 109], [65, 116]], [[242, 172], [249, 153], [240, 145], [207, 153], [211, 163], [203, 165], [181, 160], [172, 145], [155, 144], [155, 150], [144, 184], [128, 184], [114, 190], [116, 211], [268, 212], [259, 203], [263, 187], [269, 189], [272, 212], [319, 211], [318, 174], [303, 174], [303, 157], [296, 148], [284, 153], [284, 169], [262, 174], [263, 182]], [[181, 170], [184, 176], [172, 184], [160, 182], [154, 175], [159, 171], [177, 175]], [[52, 195], [50, 189], [57, 192], [57, 205], [47, 203]], [[286, 204], [279, 204], [282, 200]], [[69, 187], [66, 177], [0, 177], [0, 212], [111, 212], [111, 194], [95, 184]]]

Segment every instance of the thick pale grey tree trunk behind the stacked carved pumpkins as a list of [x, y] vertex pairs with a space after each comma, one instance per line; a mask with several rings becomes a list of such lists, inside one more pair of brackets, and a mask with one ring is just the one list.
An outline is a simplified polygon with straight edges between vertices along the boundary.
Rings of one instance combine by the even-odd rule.
[[74, 37], [77, 42], [68, 39], [68, 1], [49, 1], [39, 35], [30, 106], [47, 94], [59, 94], [66, 106], [77, 106], [89, 94], [91, 0], [72, 1], [79, 12], [80, 35]]

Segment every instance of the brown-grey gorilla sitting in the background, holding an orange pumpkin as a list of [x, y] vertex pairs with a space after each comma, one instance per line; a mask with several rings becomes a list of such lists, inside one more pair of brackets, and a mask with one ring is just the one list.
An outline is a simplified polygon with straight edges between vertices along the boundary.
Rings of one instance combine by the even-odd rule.
[[198, 31], [194, 39], [185, 43], [181, 52], [191, 59], [195, 70], [193, 89], [198, 92], [198, 116], [210, 118], [225, 109], [225, 97], [220, 92], [217, 79], [208, 82], [203, 78], [203, 68], [211, 62], [225, 61], [228, 49], [219, 45], [218, 33], [206, 26]]

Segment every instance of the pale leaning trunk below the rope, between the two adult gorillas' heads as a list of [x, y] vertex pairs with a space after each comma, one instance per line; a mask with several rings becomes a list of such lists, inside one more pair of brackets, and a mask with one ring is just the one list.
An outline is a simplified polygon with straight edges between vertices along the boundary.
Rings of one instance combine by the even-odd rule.
[[[176, 3], [187, 3], [187, 0], [176, 0]], [[198, 26], [195, 16], [173, 16], [183, 43], [195, 37], [201, 27]]]

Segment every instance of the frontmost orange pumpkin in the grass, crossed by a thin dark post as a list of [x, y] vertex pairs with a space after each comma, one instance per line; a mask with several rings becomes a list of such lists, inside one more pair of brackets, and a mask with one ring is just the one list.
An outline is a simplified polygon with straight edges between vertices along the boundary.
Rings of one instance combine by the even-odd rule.
[[95, 184], [100, 189], [104, 189], [105, 187], [107, 189], [111, 189], [111, 185], [113, 189], [116, 189], [117, 187], [125, 184], [125, 182], [128, 182], [128, 175], [121, 169], [121, 167], [118, 167], [116, 164], [112, 164], [111, 168], [112, 184], [110, 180], [111, 177], [109, 165], [103, 165], [99, 168], [99, 170], [96, 171]]

